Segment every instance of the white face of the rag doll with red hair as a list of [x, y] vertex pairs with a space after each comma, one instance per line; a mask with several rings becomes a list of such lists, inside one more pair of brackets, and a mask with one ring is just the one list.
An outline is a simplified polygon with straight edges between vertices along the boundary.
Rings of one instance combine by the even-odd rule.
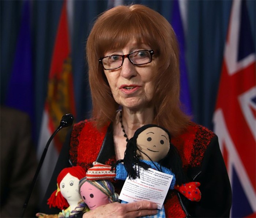
[[60, 192], [67, 201], [79, 201], [81, 196], [79, 195], [79, 179], [72, 176], [70, 173], [60, 182]]

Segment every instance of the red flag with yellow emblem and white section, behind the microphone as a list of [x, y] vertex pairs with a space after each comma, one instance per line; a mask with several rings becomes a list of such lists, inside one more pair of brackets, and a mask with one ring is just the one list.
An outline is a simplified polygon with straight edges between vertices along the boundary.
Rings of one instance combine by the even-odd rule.
[[[55, 39], [52, 62], [50, 66], [48, 93], [42, 116], [41, 131], [38, 142], [38, 159], [41, 158], [45, 145], [60, 124], [64, 114], [75, 115], [74, 89], [71, 67], [71, 48], [67, 20], [66, 1], [61, 10], [59, 27]], [[67, 129], [61, 129], [49, 145], [44, 164], [39, 175], [41, 195], [45, 194], [59, 152], [64, 143]]]

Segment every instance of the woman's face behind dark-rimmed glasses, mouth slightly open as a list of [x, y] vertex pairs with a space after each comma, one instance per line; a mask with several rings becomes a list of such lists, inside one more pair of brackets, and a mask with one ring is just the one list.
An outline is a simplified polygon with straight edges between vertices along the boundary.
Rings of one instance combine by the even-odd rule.
[[[125, 55], [133, 51], [150, 50], [146, 44], [138, 46], [135, 40], [129, 42], [124, 48], [108, 51], [104, 56]], [[157, 59], [141, 66], [133, 65], [128, 58], [124, 58], [123, 66], [116, 70], [104, 70], [108, 79], [114, 100], [129, 109], [143, 109], [151, 105], [154, 96], [153, 76], [157, 73]]]

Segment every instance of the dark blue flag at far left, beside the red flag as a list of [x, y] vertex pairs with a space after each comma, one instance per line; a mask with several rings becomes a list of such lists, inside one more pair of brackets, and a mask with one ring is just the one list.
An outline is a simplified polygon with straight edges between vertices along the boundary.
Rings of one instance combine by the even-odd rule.
[[26, 0], [23, 2], [20, 30], [5, 105], [26, 112], [33, 121], [33, 99], [30, 1]]

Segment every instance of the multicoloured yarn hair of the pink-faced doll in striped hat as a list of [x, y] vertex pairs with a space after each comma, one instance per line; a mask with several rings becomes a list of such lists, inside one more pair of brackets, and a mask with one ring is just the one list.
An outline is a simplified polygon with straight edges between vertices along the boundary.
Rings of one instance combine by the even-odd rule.
[[96, 188], [98, 188], [105, 195], [107, 195], [109, 197], [109, 203], [113, 203], [113, 202], [118, 201], [119, 195], [116, 192], [114, 192], [115, 191], [114, 186], [113, 186], [112, 182], [109, 179], [87, 180], [86, 177], [84, 177], [83, 179], [81, 179], [79, 181], [79, 192], [80, 192], [81, 186], [86, 181], [89, 182], [91, 185], [95, 186]]

